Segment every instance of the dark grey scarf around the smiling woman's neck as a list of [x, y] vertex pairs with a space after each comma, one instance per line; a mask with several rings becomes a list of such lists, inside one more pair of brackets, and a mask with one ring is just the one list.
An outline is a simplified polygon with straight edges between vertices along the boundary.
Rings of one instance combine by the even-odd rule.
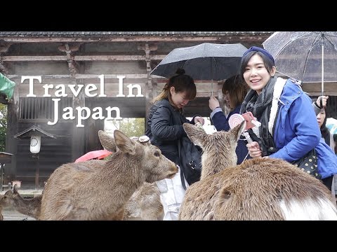
[[[270, 78], [267, 85], [263, 87], [262, 92], [258, 95], [255, 90], [249, 90], [244, 102], [242, 102], [240, 113], [251, 112], [253, 116], [261, 123], [258, 128], [260, 132], [260, 139], [256, 137], [253, 130], [248, 130], [253, 141], [258, 141], [260, 147], [262, 147], [263, 156], [268, 155], [268, 148], [275, 147], [272, 135], [268, 130], [268, 123], [270, 119], [270, 109], [272, 108], [272, 97], [274, 92], [274, 86], [277, 78]], [[278, 111], [277, 111], [278, 112]], [[262, 144], [262, 146], [261, 146]]]

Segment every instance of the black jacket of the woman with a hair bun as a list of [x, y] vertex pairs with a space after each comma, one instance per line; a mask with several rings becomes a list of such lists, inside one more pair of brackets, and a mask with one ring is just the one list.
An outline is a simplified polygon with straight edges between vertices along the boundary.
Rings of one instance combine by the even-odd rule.
[[[175, 122], [172, 113], [177, 113], [181, 122]], [[183, 123], [194, 123], [194, 118], [192, 122], [187, 120], [167, 99], [155, 102], [147, 118], [145, 134], [150, 137], [151, 144], [158, 146], [161, 153], [176, 164], [179, 164], [177, 140], [187, 136]]]

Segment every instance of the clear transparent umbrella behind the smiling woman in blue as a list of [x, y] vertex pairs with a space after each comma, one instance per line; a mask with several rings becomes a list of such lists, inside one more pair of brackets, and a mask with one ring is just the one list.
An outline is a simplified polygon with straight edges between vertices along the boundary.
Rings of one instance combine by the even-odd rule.
[[263, 42], [277, 71], [303, 83], [337, 81], [337, 31], [277, 31]]

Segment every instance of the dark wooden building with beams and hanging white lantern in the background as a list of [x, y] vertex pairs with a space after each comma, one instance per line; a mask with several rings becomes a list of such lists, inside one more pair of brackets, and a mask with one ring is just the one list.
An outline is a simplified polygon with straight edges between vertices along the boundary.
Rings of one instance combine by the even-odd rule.
[[[101, 148], [97, 132], [103, 130], [104, 120], [92, 118], [97, 112], [94, 108], [102, 108], [105, 117], [106, 108], [118, 108], [119, 111], [112, 110], [114, 117], [146, 118], [152, 97], [161, 92], [166, 80], [152, 78], [149, 73], [174, 48], [206, 42], [242, 43], [249, 48], [261, 46], [271, 34], [270, 31], [0, 31], [0, 72], [16, 83], [8, 104], [6, 152], [12, 153], [13, 158], [11, 164], [6, 164], [5, 182], [19, 180], [25, 184], [35, 178], [37, 160], [29, 151], [29, 139], [14, 138], [18, 132], [36, 125], [55, 137], [41, 140], [38, 162], [42, 184], [58, 166]], [[196, 83], [197, 98], [188, 104], [185, 115], [209, 116], [210, 82], [196, 80]], [[319, 88], [320, 85], [308, 85], [303, 89], [319, 95]], [[221, 99], [220, 83], [214, 90]], [[326, 90], [337, 95], [332, 85], [326, 85]], [[336, 107], [336, 99], [333, 101]], [[77, 107], [86, 107], [91, 116], [79, 121], [88, 111]], [[63, 109], [72, 110], [74, 119], [65, 120]]]

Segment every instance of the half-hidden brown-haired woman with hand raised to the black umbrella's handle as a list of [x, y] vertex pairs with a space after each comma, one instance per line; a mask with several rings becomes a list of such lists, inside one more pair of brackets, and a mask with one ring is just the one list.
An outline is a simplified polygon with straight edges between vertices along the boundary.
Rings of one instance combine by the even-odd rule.
[[[234, 113], [240, 113], [241, 104], [244, 101], [248, 89], [248, 85], [246, 85], [238, 75], [225, 80], [222, 92], [223, 100], [225, 101], [225, 110], [230, 111], [227, 116], [223, 113], [223, 109], [221, 109], [218, 99], [214, 96], [209, 98], [209, 109], [212, 111], [210, 118], [213, 121], [216, 130], [225, 130], [226, 132], [230, 130], [228, 120]], [[246, 143], [241, 141], [241, 139], [237, 143], [236, 153], [237, 165], [241, 164], [246, 158], [250, 158], [248, 156]]]

